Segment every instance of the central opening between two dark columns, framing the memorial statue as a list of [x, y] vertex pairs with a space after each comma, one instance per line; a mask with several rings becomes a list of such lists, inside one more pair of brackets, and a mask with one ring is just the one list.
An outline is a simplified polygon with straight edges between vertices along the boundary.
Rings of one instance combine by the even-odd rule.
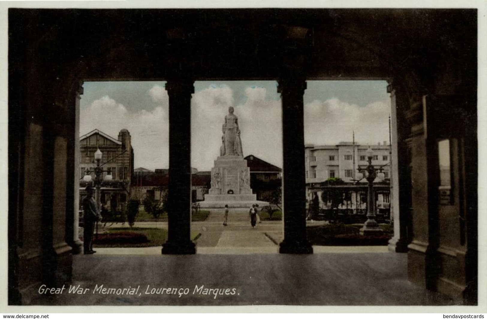
[[[194, 87], [192, 189], [202, 193], [192, 201], [197, 253], [277, 253], [282, 241], [277, 83], [196, 81]], [[201, 214], [208, 214], [206, 220]]]

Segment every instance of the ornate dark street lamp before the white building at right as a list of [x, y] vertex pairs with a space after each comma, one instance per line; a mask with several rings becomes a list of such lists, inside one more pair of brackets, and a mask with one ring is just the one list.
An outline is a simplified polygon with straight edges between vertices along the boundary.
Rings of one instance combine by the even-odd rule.
[[[374, 194], [374, 180], [377, 177], [379, 180], [384, 179], [384, 173], [382, 173], [382, 168], [376, 170], [374, 165], [372, 165], [372, 158], [374, 156], [372, 149], [366, 152], [369, 165], [365, 168], [365, 179], [369, 183], [367, 192], [367, 221], [364, 226], [360, 229], [361, 235], [380, 235], [382, 234], [382, 229], [379, 227], [375, 221], [375, 194]], [[378, 173], [376, 172], [378, 171]], [[357, 179], [361, 177], [361, 173], [357, 174]]]

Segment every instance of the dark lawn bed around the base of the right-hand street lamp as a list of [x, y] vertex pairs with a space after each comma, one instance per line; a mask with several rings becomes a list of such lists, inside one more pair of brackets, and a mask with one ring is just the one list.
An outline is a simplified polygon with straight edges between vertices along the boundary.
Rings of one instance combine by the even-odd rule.
[[383, 235], [361, 236], [362, 224], [307, 226], [306, 237], [318, 246], [385, 246], [391, 239], [390, 225], [380, 224]]

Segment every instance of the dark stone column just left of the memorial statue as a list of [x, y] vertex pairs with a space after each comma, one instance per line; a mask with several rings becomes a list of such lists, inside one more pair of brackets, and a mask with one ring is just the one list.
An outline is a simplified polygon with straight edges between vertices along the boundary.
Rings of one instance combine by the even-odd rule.
[[193, 81], [171, 79], [169, 94], [168, 241], [163, 254], [194, 254], [191, 242], [191, 94]]

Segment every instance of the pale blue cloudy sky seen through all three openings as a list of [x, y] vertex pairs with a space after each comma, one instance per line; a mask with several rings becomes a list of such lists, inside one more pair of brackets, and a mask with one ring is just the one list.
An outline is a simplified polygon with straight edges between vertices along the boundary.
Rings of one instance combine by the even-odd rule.
[[[307, 81], [304, 140], [315, 145], [389, 141], [385, 81]], [[169, 167], [169, 97], [165, 82], [85, 82], [80, 136], [92, 130], [131, 133], [134, 167]], [[275, 81], [195, 82], [191, 99], [191, 166], [208, 171], [219, 156], [228, 107], [239, 118], [244, 156], [282, 167], [281, 95]]]

